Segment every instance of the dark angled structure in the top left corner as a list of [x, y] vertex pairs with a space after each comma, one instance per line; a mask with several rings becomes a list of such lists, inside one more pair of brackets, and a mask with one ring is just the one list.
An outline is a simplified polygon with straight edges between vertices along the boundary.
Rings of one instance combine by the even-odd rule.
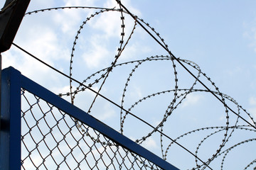
[[9, 50], [30, 0], [6, 0], [0, 11], [0, 53]]

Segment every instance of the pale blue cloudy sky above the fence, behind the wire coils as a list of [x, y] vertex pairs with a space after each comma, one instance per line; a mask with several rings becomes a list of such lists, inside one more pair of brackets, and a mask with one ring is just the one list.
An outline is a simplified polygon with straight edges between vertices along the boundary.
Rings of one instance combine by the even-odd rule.
[[[247, 113], [250, 113], [254, 120], [256, 119], [256, 76], [254, 74], [256, 71], [256, 1], [127, 0], [122, 1], [122, 4], [138, 18], [143, 18], [145, 23], [149, 23], [155, 33], [140, 21], [161, 43], [163, 43], [161, 41], [163, 38], [171, 53], [180, 58], [193, 74], [198, 75], [198, 70], [191, 65], [200, 68], [200, 71], [207, 77], [201, 74], [199, 79], [210, 90], [215, 91], [218, 87], [221, 93], [230, 96], [228, 98], [238, 103]], [[0, 5], [3, 6], [3, 4]], [[27, 11], [58, 6], [119, 8], [113, 0], [31, 0]], [[114, 56], [117, 55], [117, 49], [120, 46], [119, 41], [122, 38], [124, 38], [124, 43], [129, 40], [117, 60], [117, 67], [112, 69], [102, 89], [100, 89], [102, 79], [100, 83], [93, 84], [92, 89], [100, 89], [100, 94], [107, 96], [127, 110], [130, 108], [132, 113], [156, 127], [163, 120], [168, 106], [175, 98], [174, 91], [159, 95], [157, 93], [174, 90], [175, 86], [178, 86], [178, 89], [190, 89], [195, 79], [178, 62], [172, 62], [168, 57], [161, 57], [161, 55], [169, 55], [169, 52], [151, 38], [138, 23], [132, 33], [134, 20], [131, 16], [123, 13], [125, 34], [122, 37], [121, 14], [117, 11], [102, 12], [87, 21], [86, 18], [96, 11], [100, 10], [60, 9], [26, 15], [14, 42], [68, 75], [70, 74], [70, 56], [73, 54], [73, 78], [81, 82], [86, 80], [85, 84], [88, 85], [93, 84], [95, 79], [100, 79], [106, 70], [100, 74], [95, 74], [96, 72], [110, 67], [110, 64], [114, 62]], [[83, 21], [86, 21], [86, 24], [83, 24]], [[83, 26], [81, 30], [80, 26]], [[78, 30], [80, 34], [76, 39]], [[131, 38], [129, 38], [130, 33], [132, 33]], [[156, 33], [159, 33], [161, 38]], [[74, 41], [76, 44], [73, 51]], [[3, 68], [12, 66], [55, 94], [70, 92], [69, 79], [21, 52], [14, 45], [1, 55]], [[131, 63], [131, 61], [146, 60], [147, 57], [163, 60]], [[129, 62], [129, 64], [118, 65], [124, 62]], [[135, 67], [136, 64], [139, 65]], [[133, 72], [132, 69], [135, 71]], [[174, 72], [178, 73], [177, 77]], [[93, 74], [95, 76], [90, 77]], [[127, 79], [129, 79], [128, 85], [125, 85]], [[178, 85], [175, 79], [178, 79]], [[74, 91], [78, 84], [73, 82], [72, 86]], [[206, 90], [198, 82], [193, 89]], [[122, 98], [124, 93], [125, 97]], [[177, 93], [181, 95], [176, 98], [178, 106], [163, 126], [163, 132], [166, 135], [175, 139], [198, 128], [225, 126], [227, 121], [225, 107], [212, 94], [206, 91], [195, 91], [189, 94], [186, 94], [186, 91], [178, 91]], [[142, 100], [151, 94], [156, 95]], [[186, 98], [183, 98], [184, 96]], [[63, 96], [63, 98], [70, 101], [70, 96]], [[95, 118], [121, 132], [120, 109], [100, 97], [96, 98], [90, 109], [94, 98], [95, 94], [91, 91], [84, 91], [75, 96], [74, 104], [84, 111], [90, 111]], [[139, 104], [134, 106], [136, 102]], [[238, 110], [234, 102], [227, 100], [227, 103], [234, 111], [241, 111], [241, 116], [252, 123], [245, 111]], [[230, 125], [235, 125], [237, 117], [230, 111], [229, 116]], [[124, 135], [132, 140], [141, 139], [151, 132], [151, 128], [130, 115], [127, 115], [125, 119], [121, 117], [121, 119], [124, 120]], [[247, 123], [239, 120], [238, 125], [247, 125]], [[225, 135], [224, 131], [209, 137], [200, 147], [198, 157], [207, 161], [221, 144]], [[181, 137], [177, 142], [195, 153], [201, 140], [212, 132], [215, 130], [193, 132], [191, 135]], [[230, 134], [230, 132], [231, 130], [227, 133]], [[223, 151], [248, 139], [255, 139], [255, 132], [236, 130], [223, 147]], [[164, 137], [163, 140], [162, 145], [165, 150], [170, 140]], [[142, 143], [142, 146], [162, 157], [160, 145], [160, 135], [156, 133]], [[226, 157], [223, 169], [245, 169], [255, 159], [255, 154], [253, 154], [255, 152], [255, 142], [236, 147]], [[210, 163], [213, 169], [220, 169], [223, 154], [220, 157]], [[196, 166], [195, 158], [175, 145], [170, 147], [166, 160], [180, 169], [192, 169]], [[253, 169], [255, 166], [256, 164], [252, 164], [247, 169]]]

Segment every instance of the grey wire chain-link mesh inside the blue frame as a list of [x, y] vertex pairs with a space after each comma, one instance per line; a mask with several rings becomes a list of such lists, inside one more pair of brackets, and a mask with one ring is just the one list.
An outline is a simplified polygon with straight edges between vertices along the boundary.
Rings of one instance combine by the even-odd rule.
[[21, 103], [21, 169], [160, 169], [24, 89]]

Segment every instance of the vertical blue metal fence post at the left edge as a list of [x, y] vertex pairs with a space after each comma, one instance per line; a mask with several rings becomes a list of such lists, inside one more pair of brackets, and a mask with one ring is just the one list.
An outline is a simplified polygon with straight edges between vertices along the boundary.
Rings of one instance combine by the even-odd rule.
[[21, 169], [21, 73], [1, 75], [0, 170]]

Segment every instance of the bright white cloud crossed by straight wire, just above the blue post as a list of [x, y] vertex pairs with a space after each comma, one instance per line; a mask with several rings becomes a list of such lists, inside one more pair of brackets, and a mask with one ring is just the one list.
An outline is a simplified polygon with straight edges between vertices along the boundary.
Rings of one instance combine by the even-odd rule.
[[[58, 41], [56, 33], [47, 26], [31, 26], [28, 29], [26, 27], [21, 28], [14, 42], [51, 66], [55, 67], [58, 65], [57, 69], [63, 69], [63, 63], [60, 65], [58, 61], [69, 61], [68, 50]], [[4, 52], [2, 55], [3, 68], [15, 67], [21, 71], [21, 74], [43, 86], [49, 85], [50, 82], [52, 84], [60, 83], [60, 77], [55, 72], [53, 73], [46, 65], [33, 59], [33, 57], [25, 52], [18, 50], [14, 45], [12, 45], [11, 50]]]

